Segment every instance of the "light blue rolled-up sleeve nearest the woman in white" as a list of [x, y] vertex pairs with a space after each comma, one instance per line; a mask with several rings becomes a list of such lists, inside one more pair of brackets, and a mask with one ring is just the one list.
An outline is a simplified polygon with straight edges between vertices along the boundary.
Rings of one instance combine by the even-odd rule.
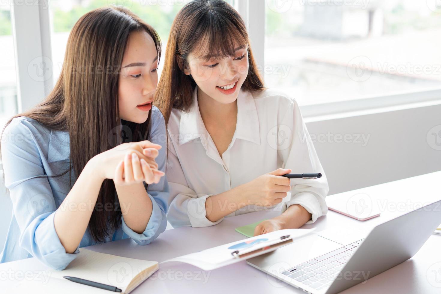
[[[165, 172], [166, 157], [167, 157], [167, 133], [165, 129], [165, 121], [158, 108], [153, 107], [152, 111], [152, 128], [150, 141], [162, 146], [159, 150], [156, 163], [158, 169]], [[145, 186], [147, 186], [144, 183]], [[167, 176], [161, 177], [161, 180], [157, 184], [150, 184], [147, 186], [147, 194], [152, 201], [152, 214], [150, 215], [149, 222], [147, 223], [146, 230], [142, 234], [138, 234], [133, 231], [124, 221], [121, 216], [122, 228], [130, 238], [132, 238], [139, 245], [150, 244], [159, 234], [165, 231], [167, 227], [167, 211], [168, 211], [168, 197], [170, 196]]]

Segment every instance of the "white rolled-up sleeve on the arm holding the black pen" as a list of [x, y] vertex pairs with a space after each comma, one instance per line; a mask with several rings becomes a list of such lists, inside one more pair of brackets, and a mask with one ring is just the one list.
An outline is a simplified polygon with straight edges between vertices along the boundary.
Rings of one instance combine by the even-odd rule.
[[170, 207], [167, 218], [173, 227], [209, 227], [224, 219], [215, 222], [207, 219], [205, 201], [213, 195], [198, 195], [188, 187], [172, 138], [169, 138], [168, 144], [167, 177], [170, 185]]

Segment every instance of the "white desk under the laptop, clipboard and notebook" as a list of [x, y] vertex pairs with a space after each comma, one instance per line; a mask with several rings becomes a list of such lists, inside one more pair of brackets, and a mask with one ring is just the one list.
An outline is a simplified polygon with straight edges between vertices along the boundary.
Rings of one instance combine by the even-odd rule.
[[[329, 211], [315, 223], [303, 228], [317, 227], [318, 231], [327, 228], [350, 225], [372, 228], [407, 211], [421, 207], [421, 204], [437, 201], [441, 198], [441, 171], [385, 183], [346, 193], [363, 191], [380, 202], [381, 216], [364, 222], [353, 220], [339, 213]], [[388, 199], [385, 201], [384, 199]], [[398, 205], [398, 206], [396, 206]], [[420, 205], [420, 206], [417, 206]], [[139, 246], [131, 239], [108, 242], [89, 246], [95, 251], [151, 261], [164, 261], [171, 257], [192, 253], [224, 243], [245, 238], [235, 231], [235, 227], [254, 223], [258, 220], [276, 216], [280, 212], [260, 211], [225, 218], [213, 227], [181, 227], [162, 233], [153, 243]], [[440, 212], [441, 213], [441, 212]], [[295, 254], [295, 253], [293, 253]], [[0, 264], [0, 284], [5, 287], [14, 281], [5, 282], [4, 272], [37, 272], [46, 267], [35, 258]], [[438, 282], [432, 279], [437, 271]], [[3, 273], [2, 273], [3, 272]], [[49, 284], [50, 285], [50, 282]], [[245, 261], [219, 268], [211, 272], [178, 263], [161, 264], [160, 269], [142, 283], [132, 293], [304, 293], [288, 284], [261, 272]], [[50, 289], [48, 289], [50, 293]], [[110, 292], [109, 292], [110, 293]], [[410, 260], [389, 269], [369, 280], [341, 293], [441, 293], [441, 235], [433, 234], [422, 249]]]

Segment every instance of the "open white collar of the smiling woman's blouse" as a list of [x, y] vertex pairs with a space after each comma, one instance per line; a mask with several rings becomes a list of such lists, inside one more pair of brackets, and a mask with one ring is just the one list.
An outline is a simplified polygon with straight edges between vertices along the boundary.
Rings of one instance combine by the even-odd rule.
[[[183, 112], [179, 124], [179, 145], [196, 138], [207, 144], [209, 133], [202, 121], [198, 106], [198, 87], [193, 91], [193, 102], [187, 112]], [[247, 140], [260, 145], [260, 125], [254, 97], [248, 91], [239, 91], [237, 97], [237, 123], [235, 138]]]

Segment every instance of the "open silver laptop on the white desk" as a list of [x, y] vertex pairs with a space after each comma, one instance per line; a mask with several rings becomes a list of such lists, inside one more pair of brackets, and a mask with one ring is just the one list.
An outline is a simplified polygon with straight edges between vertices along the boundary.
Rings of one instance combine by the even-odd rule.
[[374, 227], [365, 238], [326, 230], [247, 260], [310, 294], [334, 294], [406, 261], [441, 223], [441, 200]]

